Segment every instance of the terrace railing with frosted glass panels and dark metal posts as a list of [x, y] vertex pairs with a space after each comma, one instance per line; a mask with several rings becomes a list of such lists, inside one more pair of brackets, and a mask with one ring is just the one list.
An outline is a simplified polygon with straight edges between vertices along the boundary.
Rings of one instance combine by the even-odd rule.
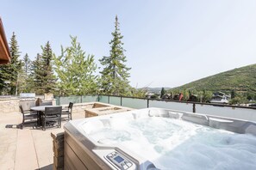
[[232, 106], [212, 103], [200, 103], [178, 100], [154, 100], [114, 95], [81, 95], [81, 96], [55, 96], [57, 105], [85, 102], [103, 102], [116, 106], [127, 106], [135, 109], [146, 107], [160, 107], [184, 112], [197, 112], [216, 116], [246, 119], [256, 122], [256, 107]]

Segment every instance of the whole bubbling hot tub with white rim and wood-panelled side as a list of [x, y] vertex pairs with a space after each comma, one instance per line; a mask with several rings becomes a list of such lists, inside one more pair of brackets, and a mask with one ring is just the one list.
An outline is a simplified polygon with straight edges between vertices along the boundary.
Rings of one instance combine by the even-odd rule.
[[255, 122], [147, 108], [65, 130], [65, 169], [256, 169]]

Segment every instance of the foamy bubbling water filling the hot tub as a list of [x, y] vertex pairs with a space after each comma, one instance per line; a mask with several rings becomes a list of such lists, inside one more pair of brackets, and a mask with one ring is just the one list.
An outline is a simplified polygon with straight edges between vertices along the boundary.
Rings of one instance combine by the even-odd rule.
[[98, 143], [118, 143], [160, 169], [256, 169], [252, 135], [162, 117], [106, 122], [87, 129], [88, 135]]

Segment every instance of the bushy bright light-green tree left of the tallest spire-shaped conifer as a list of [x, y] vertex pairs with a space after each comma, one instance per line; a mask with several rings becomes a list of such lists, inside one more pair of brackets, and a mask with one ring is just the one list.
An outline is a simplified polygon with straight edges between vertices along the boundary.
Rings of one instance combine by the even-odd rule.
[[76, 37], [72, 46], [61, 46], [61, 55], [54, 56], [55, 71], [59, 78], [58, 91], [61, 95], [85, 95], [97, 92], [97, 65], [93, 55], [86, 55]]

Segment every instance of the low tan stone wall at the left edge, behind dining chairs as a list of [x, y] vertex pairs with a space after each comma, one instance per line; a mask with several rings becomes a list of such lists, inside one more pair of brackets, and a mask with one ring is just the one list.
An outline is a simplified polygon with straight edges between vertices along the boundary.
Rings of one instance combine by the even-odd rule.
[[0, 99], [0, 114], [1, 113], [16, 113], [19, 112], [19, 101], [20, 99]]

